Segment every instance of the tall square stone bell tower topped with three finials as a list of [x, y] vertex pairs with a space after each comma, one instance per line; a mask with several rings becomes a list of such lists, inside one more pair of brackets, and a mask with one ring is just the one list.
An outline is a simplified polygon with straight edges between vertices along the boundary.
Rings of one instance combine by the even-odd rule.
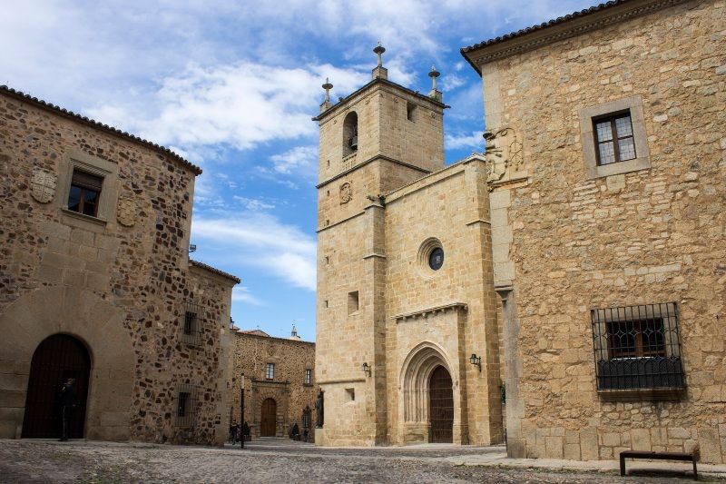
[[[319, 445], [386, 443], [385, 195], [444, 166], [446, 104], [388, 80], [386, 49], [368, 84], [338, 103], [322, 85], [319, 122], [316, 380]], [[363, 370], [363, 363], [368, 370]], [[391, 383], [392, 384], [392, 383]], [[318, 436], [316, 433], [316, 436]]]

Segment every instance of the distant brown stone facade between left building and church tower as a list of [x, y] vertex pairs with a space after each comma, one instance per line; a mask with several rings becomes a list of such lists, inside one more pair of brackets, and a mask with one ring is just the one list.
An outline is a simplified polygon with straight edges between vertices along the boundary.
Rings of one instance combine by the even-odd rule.
[[[233, 357], [228, 377], [231, 421], [242, 421], [240, 381], [244, 381], [244, 421], [250, 426], [252, 439], [260, 437], [263, 403], [272, 399], [276, 413], [274, 435], [270, 436], [287, 437], [297, 423], [300, 439], [305, 440], [307, 430], [311, 441], [319, 392], [315, 381], [315, 343], [300, 341], [294, 333], [284, 339], [271, 337], [264, 331], [232, 331], [231, 340]], [[268, 379], [270, 363], [274, 370]], [[306, 372], [309, 372], [309, 382], [306, 382]], [[304, 415], [308, 416], [307, 421]]]

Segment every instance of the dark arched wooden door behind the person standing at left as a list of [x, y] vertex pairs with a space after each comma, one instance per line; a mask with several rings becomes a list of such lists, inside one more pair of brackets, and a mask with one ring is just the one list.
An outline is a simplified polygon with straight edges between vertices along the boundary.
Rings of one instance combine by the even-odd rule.
[[83, 439], [91, 358], [81, 341], [67, 334], [54, 334], [33, 353], [23, 419], [24, 439], [56, 439], [61, 436], [60, 390], [64, 381], [75, 379], [76, 406], [71, 414], [69, 437]]

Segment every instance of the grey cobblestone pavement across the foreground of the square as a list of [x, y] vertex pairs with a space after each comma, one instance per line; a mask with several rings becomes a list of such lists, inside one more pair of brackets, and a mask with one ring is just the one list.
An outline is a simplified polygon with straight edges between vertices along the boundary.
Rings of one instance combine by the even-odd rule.
[[[0, 440], [0, 482], [687, 482], [676, 476], [492, 469], [456, 465], [476, 448], [239, 449], [50, 440]], [[721, 481], [722, 482], [722, 481]]]

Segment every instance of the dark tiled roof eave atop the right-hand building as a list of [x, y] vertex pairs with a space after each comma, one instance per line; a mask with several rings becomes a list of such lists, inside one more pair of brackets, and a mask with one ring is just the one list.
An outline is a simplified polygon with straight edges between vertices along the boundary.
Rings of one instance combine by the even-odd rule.
[[497, 59], [535, 50], [587, 32], [618, 24], [637, 16], [692, 0], [615, 0], [559, 17], [544, 24], [527, 27], [481, 44], [464, 47], [461, 54], [481, 75], [481, 67]]

